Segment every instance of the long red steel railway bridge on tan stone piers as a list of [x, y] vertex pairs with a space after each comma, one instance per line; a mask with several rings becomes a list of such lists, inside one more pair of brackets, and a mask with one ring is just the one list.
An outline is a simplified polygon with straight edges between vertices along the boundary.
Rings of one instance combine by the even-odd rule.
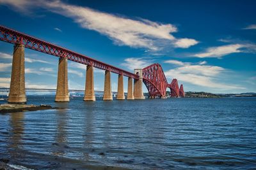
[[[73, 52], [67, 48], [48, 43], [33, 36], [29, 36], [19, 31], [9, 29], [0, 25], [0, 40], [13, 43], [12, 76], [10, 82], [10, 92], [8, 103], [26, 103], [25, 89], [25, 65], [24, 48], [30, 48], [38, 52], [47, 53], [60, 57], [58, 63], [58, 81], [56, 89], [56, 102], [68, 102], [68, 67], [67, 60], [72, 60], [86, 65], [86, 83], [84, 90], [84, 101], [95, 101], [95, 91], [93, 83], [93, 67], [105, 70], [103, 100], [113, 100], [111, 92], [111, 74], [118, 74], [118, 90], [116, 99], [124, 100], [123, 77], [128, 77], [127, 99], [145, 99], [143, 96], [142, 82], [145, 83], [150, 98], [166, 98], [166, 89], [170, 88], [172, 97], [184, 97], [183, 85], [178, 85], [176, 79], [168, 83], [160, 64], [152, 64], [143, 69], [134, 69], [134, 73], [125, 71], [115, 66], [111, 66], [99, 60], [92, 59], [86, 55]], [[132, 79], [134, 80], [132, 90]]]

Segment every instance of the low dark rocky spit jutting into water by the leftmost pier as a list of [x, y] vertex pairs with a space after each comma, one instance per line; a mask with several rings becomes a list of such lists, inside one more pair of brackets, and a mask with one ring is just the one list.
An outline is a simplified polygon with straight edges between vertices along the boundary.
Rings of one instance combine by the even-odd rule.
[[40, 104], [39, 106], [36, 106], [34, 104], [0, 104], [0, 113], [51, 110], [51, 109], [60, 109], [60, 108], [52, 108], [52, 106], [45, 105], [45, 104]]

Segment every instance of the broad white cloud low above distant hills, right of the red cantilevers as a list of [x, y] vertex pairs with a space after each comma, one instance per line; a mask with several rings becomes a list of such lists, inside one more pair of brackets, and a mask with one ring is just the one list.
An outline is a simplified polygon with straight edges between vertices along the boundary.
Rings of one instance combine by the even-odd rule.
[[202, 62], [201, 65], [193, 65], [189, 62], [184, 62], [183, 65], [179, 64], [179, 66], [180, 67], [164, 72], [166, 77], [177, 78], [179, 81], [185, 81], [201, 87], [222, 90], [244, 89], [244, 87], [228, 85], [221, 82], [220, 75], [226, 71], [223, 67], [205, 66]]

